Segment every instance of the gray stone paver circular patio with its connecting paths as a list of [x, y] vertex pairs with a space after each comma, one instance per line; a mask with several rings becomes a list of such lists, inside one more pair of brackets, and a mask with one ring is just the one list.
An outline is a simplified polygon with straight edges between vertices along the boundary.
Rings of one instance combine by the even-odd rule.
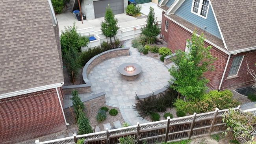
[[[92, 94], [106, 92], [106, 104], [118, 107], [124, 120], [132, 125], [146, 120], [138, 117], [137, 111], [132, 109], [137, 95], [148, 94], [168, 85], [171, 76], [168, 68], [161, 61], [141, 56], [137, 49], [132, 47], [132, 40], [126, 41], [125, 47], [130, 48], [130, 56], [115, 57], [96, 65], [88, 75], [91, 81]], [[142, 72], [135, 81], [122, 79], [118, 66], [122, 63], [137, 63], [141, 65]]]

